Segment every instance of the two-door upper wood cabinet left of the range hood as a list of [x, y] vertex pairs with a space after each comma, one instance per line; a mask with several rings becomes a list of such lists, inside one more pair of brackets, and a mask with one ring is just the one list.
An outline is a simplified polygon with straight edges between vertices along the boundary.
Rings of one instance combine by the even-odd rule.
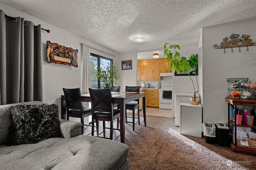
[[160, 63], [157, 59], [138, 60], [138, 81], [160, 80]]

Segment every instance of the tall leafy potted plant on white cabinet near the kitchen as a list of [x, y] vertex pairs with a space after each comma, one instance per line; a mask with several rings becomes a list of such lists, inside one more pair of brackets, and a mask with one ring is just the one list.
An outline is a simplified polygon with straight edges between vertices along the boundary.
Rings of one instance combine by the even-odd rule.
[[179, 45], [170, 45], [169, 43], [165, 43], [164, 45], [164, 55], [167, 57], [167, 61], [170, 61], [169, 68], [173, 68], [174, 71], [177, 73], [187, 73], [190, 80], [192, 81], [193, 87], [194, 87], [194, 96], [190, 99], [190, 103], [194, 105], [198, 105], [200, 100], [196, 96], [196, 93], [199, 92], [199, 85], [198, 80], [196, 76], [196, 83], [198, 86], [198, 90], [196, 91], [194, 82], [190, 76], [190, 70], [192, 69], [196, 75], [196, 69], [198, 67], [198, 54], [194, 55], [192, 54], [190, 58], [187, 60], [186, 57], [180, 55], [179, 51], [180, 46]]

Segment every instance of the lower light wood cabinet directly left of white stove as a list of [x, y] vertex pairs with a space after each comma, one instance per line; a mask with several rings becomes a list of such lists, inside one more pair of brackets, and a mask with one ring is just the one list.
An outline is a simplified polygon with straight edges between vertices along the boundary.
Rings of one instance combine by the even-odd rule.
[[159, 90], [146, 90], [146, 106], [159, 107]]

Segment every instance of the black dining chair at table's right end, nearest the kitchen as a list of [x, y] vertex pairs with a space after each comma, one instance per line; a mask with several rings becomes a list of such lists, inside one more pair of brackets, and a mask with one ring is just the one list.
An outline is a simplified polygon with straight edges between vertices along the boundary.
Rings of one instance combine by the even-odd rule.
[[[126, 86], [125, 87], [125, 92], [140, 92], [140, 86]], [[134, 125], [136, 123], [139, 123], [140, 125], [140, 109], [139, 109], [139, 99], [129, 102], [128, 104], [126, 104], [126, 110], [125, 110], [125, 119], [126, 119], [126, 123], [132, 123], [132, 130], [134, 131]], [[132, 117], [131, 116], [127, 116], [127, 109], [132, 110]], [[135, 117], [135, 110], [138, 109], [138, 117]], [[132, 122], [129, 122], [127, 120], [127, 117], [132, 118]], [[138, 121], [135, 123], [135, 118], [138, 119]]]

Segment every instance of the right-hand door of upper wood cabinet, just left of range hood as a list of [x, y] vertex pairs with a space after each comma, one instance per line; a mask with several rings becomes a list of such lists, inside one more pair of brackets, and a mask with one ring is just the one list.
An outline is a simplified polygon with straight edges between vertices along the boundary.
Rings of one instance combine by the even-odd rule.
[[148, 80], [160, 80], [159, 62], [148, 63]]

